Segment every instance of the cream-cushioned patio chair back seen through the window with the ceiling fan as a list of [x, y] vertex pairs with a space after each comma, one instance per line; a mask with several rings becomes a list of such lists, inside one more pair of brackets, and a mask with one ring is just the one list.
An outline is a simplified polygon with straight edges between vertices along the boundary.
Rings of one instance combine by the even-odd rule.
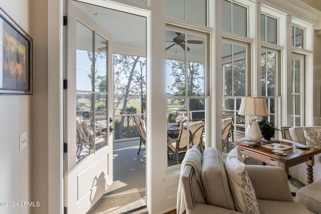
[[[187, 145], [187, 121], [183, 122], [183, 126], [179, 133], [179, 142], [178, 142], [178, 148], [185, 148]], [[193, 147], [193, 145], [199, 145], [202, 143], [202, 135], [204, 132], [204, 121], [198, 120], [193, 122], [190, 121], [189, 123], [189, 147]]]

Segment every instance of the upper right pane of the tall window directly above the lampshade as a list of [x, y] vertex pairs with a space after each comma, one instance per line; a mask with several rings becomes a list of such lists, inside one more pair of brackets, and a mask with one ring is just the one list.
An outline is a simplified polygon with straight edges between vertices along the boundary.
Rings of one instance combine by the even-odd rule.
[[245, 96], [245, 51], [244, 46], [233, 44], [233, 96]]

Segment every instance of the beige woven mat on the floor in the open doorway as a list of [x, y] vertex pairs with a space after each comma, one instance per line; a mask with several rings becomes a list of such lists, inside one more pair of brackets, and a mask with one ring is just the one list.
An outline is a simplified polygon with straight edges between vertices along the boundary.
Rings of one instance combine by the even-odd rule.
[[134, 188], [125, 192], [101, 197], [87, 214], [125, 213], [144, 205], [144, 200], [141, 198], [138, 190]]

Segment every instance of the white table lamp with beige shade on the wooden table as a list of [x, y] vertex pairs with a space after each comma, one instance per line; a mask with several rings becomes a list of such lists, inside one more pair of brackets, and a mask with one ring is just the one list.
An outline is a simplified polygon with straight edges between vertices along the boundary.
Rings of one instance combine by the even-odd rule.
[[262, 135], [254, 116], [269, 116], [264, 97], [242, 97], [239, 115], [252, 116], [245, 131], [246, 139], [249, 141], [260, 142]]

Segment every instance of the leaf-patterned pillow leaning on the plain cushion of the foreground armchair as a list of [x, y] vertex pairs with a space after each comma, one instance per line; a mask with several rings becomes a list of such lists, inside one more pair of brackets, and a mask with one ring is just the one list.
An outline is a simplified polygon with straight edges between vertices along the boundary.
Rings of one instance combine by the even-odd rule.
[[238, 147], [232, 149], [225, 159], [225, 171], [231, 187], [236, 209], [244, 213], [259, 213], [254, 188], [245, 170]]

